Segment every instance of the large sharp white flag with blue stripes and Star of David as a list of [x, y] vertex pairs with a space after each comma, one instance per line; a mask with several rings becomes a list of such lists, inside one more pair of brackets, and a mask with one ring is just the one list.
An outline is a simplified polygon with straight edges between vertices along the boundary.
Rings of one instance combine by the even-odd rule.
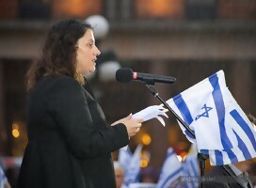
[[226, 86], [223, 71], [184, 90], [168, 104], [195, 133], [196, 139], [180, 124], [199, 152], [209, 154], [212, 165], [256, 157], [256, 133]]

